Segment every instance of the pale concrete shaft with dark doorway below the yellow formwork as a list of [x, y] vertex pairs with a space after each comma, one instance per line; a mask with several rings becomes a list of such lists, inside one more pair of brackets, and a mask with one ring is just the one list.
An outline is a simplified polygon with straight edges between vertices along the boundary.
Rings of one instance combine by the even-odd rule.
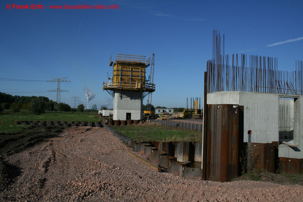
[[116, 89], [113, 120], [127, 120], [126, 113], [131, 113], [131, 120], [142, 120], [142, 104], [142, 91]]

